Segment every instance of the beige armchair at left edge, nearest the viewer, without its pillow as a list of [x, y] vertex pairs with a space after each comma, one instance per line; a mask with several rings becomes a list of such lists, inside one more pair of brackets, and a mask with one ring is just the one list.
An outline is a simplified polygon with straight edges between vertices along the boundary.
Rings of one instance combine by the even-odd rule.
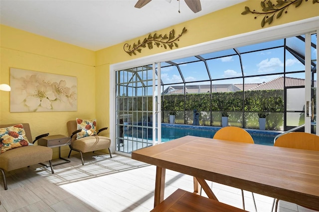
[[[14, 126], [14, 125], [16, 124], [0, 124], [0, 128], [5, 128], [9, 126]], [[22, 125], [25, 131], [25, 136], [27, 140], [31, 143], [32, 136], [31, 136], [30, 126], [28, 123], [22, 123]], [[47, 136], [48, 134], [49, 133], [37, 136], [32, 143], [34, 144], [35, 141], [37, 141], [39, 138]], [[5, 139], [1, 137], [1, 142], [2, 140], [5, 140]], [[0, 147], [1, 146], [2, 145], [0, 145]], [[29, 167], [30, 165], [33, 165], [33, 164], [49, 161], [51, 172], [52, 174], [54, 174], [54, 170], [51, 163], [52, 155], [53, 155], [53, 151], [51, 148], [46, 146], [38, 146], [38, 145], [21, 146], [18, 148], [13, 148], [5, 152], [2, 152], [0, 154], [0, 172], [2, 174], [4, 190], [7, 190], [4, 171], [9, 172], [11, 170], [15, 170], [15, 169], [23, 168], [23, 167]]]

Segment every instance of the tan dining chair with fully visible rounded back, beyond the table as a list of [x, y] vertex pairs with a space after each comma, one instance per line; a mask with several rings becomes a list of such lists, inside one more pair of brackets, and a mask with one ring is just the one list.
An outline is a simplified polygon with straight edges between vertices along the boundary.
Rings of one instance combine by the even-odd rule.
[[[242, 143], [254, 143], [254, 139], [251, 135], [243, 128], [237, 126], [226, 126], [219, 129], [214, 137], [214, 139], [227, 140], [227, 141], [235, 141]], [[254, 193], [251, 193], [254, 201], [255, 210], [257, 212], [256, 202]], [[245, 199], [244, 199], [244, 191], [241, 189], [242, 201], [243, 201], [243, 209], [245, 210]]]

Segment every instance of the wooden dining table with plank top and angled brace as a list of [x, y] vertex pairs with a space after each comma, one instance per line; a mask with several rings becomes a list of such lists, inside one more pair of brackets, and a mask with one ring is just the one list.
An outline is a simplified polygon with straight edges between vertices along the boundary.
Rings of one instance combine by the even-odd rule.
[[[217, 200], [205, 180], [319, 210], [319, 152], [184, 136], [132, 152], [157, 166], [155, 202], [164, 199], [165, 169], [194, 177]], [[197, 183], [198, 182], [198, 183]]]

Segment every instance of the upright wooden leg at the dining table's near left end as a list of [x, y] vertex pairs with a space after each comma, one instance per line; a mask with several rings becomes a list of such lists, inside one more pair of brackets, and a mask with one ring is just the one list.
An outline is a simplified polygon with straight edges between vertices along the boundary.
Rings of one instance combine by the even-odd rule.
[[156, 167], [154, 208], [164, 200], [165, 168]]

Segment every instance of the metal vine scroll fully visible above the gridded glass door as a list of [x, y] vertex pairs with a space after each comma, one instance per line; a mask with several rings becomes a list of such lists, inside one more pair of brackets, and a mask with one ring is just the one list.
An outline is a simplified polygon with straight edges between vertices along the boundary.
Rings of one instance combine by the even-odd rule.
[[178, 47], [176, 41], [179, 41], [179, 38], [187, 31], [187, 29], [184, 27], [182, 32], [175, 37], [175, 30], [172, 29], [168, 36], [167, 34], [164, 35], [157, 35], [155, 33], [154, 35], [149, 34], [147, 38], [144, 38], [144, 40], [141, 42], [138, 40], [137, 43], [134, 43], [133, 46], [129, 45], [128, 43], [124, 44], [123, 49], [126, 53], [132, 56], [132, 54], [136, 55], [136, 52], [142, 51], [142, 48], [148, 47], [149, 49], [153, 49], [153, 46], [157, 47], [164, 47], [164, 49], [172, 49], [174, 46]]

